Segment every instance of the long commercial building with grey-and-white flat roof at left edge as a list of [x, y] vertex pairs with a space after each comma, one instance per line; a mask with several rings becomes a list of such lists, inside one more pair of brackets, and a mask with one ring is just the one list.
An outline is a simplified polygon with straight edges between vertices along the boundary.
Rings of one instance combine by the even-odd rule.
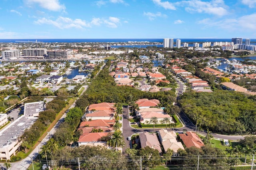
[[16, 155], [20, 146], [20, 136], [30, 128], [37, 119], [39, 112], [44, 111], [44, 102], [26, 103], [24, 115], [16, 119], [0, 132], [0, 159], [10, 160]]

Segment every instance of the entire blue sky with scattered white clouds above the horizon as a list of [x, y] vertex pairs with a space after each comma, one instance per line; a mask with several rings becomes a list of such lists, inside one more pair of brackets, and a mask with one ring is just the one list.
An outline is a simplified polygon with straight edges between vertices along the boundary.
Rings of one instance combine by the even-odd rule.
[[256, 0], [0, 0], [0, 39], [256, 38]]

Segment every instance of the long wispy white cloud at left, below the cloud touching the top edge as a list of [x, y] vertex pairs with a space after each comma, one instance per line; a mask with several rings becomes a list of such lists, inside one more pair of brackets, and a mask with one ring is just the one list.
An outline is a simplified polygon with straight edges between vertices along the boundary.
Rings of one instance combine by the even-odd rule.
[[65, 17], [59, 17], [57, 20], [50, 20], [47, 18], [41, 18], [35, 21], [36, 24], [48, 24], [53, 25], [55, 27], [58, 27], [60, 29], [64, 28], [84, 28], [84, 27], [90, 27], [90, 24], [86, 24], [84, 20], [81, 19], [75, 19], [72, 20], [71, 18], [65, 18]]

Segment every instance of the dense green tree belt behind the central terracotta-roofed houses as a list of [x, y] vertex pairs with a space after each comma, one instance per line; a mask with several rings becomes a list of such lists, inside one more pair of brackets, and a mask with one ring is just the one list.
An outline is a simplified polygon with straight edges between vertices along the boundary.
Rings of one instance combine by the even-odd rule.
[[[106, 63], [106, 66], [108, 66], [108, 63]], [[76, 101], [77, 107], [84, 109], [90, 104], [102, 102], [129, 103], [131, 100], [136, 101], [143, 98], [161, 99], [163, 103], [172, 103], [175, 100], [174, 91], [151, 93], [140, 91], [130, 86], [118, 86], [115, 84], [114, 78], [108, 73], [108, 67], [100, 71], [86, 90], [86, 93]]]

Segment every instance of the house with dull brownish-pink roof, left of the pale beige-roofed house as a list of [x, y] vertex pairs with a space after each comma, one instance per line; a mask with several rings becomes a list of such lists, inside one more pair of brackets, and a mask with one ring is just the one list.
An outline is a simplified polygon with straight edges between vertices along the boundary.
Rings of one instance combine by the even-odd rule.
[[140, 133], [140, 144], [142, 148], [149, 146], [158, 150], [159, 154], [162, 154], [161, 146], [155, 133]]

